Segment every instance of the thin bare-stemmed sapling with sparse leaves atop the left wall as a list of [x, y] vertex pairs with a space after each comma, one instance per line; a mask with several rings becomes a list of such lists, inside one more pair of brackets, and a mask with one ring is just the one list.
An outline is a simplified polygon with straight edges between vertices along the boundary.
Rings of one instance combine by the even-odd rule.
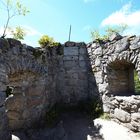
[[4, 25], [4, 31], [2, 34], [2, 38], [4, 38], [6, 36], [6, 32], [9, 26], [9, 23], [11, 21], [12, 18], [14, 18], [15, 16], [25, 16], [29, 10], [21, 4], [20, 0], [0, 0], [1, 4], [3, 5], [3, 7], [6, 10], [6, 22]]

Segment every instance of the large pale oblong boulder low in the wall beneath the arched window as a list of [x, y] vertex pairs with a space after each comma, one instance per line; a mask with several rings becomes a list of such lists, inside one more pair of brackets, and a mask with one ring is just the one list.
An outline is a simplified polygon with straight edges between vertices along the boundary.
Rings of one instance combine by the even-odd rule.
[[121, 122], [128, 123], [128, 122], [131, 121], [130, 114], [125, 112], [125, 111], [123, 111], [123, 110], [121, 110], [121, 109], [116, 108], [114, 110], [114, 115]]

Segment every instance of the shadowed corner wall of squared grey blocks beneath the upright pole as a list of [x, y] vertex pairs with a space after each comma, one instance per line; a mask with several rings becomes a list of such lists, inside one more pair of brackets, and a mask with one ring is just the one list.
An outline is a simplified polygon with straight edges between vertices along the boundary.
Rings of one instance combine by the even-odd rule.
[[[63, 54], [59, 59], [57, 92], [61, 102], [76, 104], [97, 94], [96, 84], [90, 87], [89, 81], [95, 81], [85, 43], [67, 42], [63, 45]], [[91, 80], [92, 79], [92, 80]]]

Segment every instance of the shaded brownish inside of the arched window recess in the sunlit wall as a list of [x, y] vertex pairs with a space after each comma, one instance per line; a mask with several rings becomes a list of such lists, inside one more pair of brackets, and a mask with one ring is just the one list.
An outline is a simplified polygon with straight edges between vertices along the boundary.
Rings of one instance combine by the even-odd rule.
[[109, 92], [117, 96], [135, 94], [134, 65], [125, 60], [116, 60], [107, 68]]

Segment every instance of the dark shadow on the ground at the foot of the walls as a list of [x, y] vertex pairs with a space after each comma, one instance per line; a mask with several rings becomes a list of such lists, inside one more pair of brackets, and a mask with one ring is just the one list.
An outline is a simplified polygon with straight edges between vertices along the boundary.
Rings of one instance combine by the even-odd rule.
[[54, 128], [14, 132], [12, 140], [103, 140], [100, 128], [86, 114], [71, 111], [61, 114]]

